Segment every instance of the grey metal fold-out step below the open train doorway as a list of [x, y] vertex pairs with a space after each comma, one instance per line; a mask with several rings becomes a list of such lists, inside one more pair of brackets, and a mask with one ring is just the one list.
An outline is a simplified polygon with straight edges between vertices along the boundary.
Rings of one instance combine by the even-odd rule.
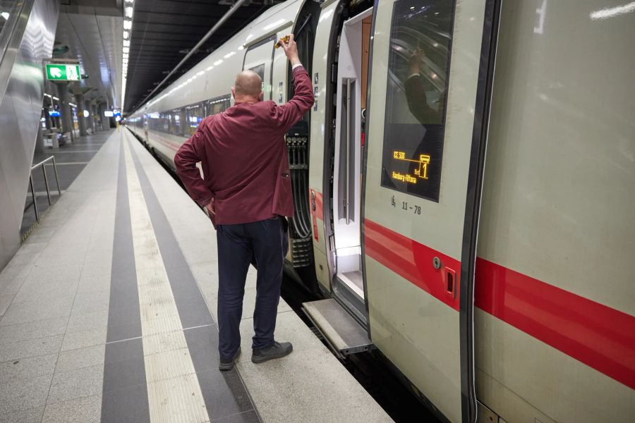
[[303, 302], [302, 311], [339, 358], [375, 348], [365, 329], [336, 300]]

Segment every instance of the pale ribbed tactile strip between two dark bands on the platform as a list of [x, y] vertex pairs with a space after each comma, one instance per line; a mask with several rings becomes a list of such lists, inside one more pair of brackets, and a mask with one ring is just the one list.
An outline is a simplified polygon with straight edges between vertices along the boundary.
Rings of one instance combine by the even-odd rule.
[[210, 422], [132, 159], [122, 137], [150, 422]]

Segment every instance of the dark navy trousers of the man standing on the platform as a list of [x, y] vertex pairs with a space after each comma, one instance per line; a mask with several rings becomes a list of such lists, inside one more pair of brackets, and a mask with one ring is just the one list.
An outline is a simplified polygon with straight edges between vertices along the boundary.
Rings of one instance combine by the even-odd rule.
[[229, 361], [241, 345], [240, 323], [249, 264], [255, 259], [256, 302], [252, 348], [274, 342], [282, 284], [282, 263], [289, 249], [283, 217], [237, 225], [218, 225], [218, 350]]

